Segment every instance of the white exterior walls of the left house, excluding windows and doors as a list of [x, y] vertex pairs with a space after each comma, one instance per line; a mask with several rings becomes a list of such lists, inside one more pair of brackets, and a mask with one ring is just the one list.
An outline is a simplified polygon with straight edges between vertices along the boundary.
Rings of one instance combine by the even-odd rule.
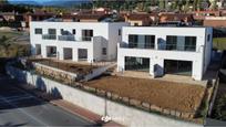
[[[100, 53], [94, 53], [96, 50], [102, 51], [101, 45], [94, 45], [93, 41], [81, 41], [82, 30], [93, 30], [93, 36], [101, 36], [107, 43], [109, 54], [116, 56], [116, 43], [121, 39], [117, 34], [114, 35], [115, 29], [122, 29], [122, 27], [127, 25], [127, 23], [115, 22], [31, 22], [30, 23], [30, 40], [32, 45], [32, 54], [35, 54], [35, 44], [41, 44], [42, 56], [47, 57], [47, 46], [56, 46], [59, 52], [59, 59], [63, 60], [63, 47], [73, 49], [73, 61], [78, 61], [78, 49], [88, 49], [88, 62], [92, 62], [94, 57], [101, 57]], [[42, 34], [34, 34], [34, 29], [42, 29], [42, 34], [48, 34], [48, 29], [56, 30], [56, 40], [42, 40]], [[74, 34], [75, 41], [60, 41], [58, 35], [61, 35], [61, 29], [68, 31], [72, 34], [72, 30], [75, 29], [76, 33]], [[97, 43], [97, 42], [96, 42]], [[100, 56], [94, 56], [95, 54]]]

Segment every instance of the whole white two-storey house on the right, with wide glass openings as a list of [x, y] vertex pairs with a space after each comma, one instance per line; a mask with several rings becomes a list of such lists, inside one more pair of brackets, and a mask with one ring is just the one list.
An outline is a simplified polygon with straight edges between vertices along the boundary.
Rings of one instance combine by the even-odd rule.
[[188, 75], [201, 81], [210, 62], [212, 28], [124, 27], [117, 50], [117, 71], [152, 76]]

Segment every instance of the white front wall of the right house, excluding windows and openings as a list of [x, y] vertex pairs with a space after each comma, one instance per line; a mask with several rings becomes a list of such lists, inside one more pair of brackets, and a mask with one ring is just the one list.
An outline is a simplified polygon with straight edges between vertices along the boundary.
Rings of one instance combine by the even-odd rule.
[[[151, 66], [150, 74], [153, 76], [163, 75], [164, 60], [178, 60], [178, 61], [192, 61], [192, 77], [194, 80], [201, 81], [204, 70], [204, 51], [206, 54], [206, 61], [209, 62], [212, 41], [206, 45], [206, 30], [212, 34], [212, 29], [209, 28], [162, 28], [162, 27], [124, 27], [123, 28], [123, 39], [122, 43], [129, 44], [129, 34], [138, 35], [155, 35], [155, 49], [123, 49], [119, 47], [117, 52], [117, 71], [124, 70], [124, 57], [125, 56], [137, 56], [137, 57], [150, 57]], [[158, 50], [157, 40], [166, 41], [166, 35], [177, 35], [177, 36], [196, 36], [196, 51], [165, 51]], [[178, 43], [184, 42], [178, 38]], [[179, 44], [179, 45], [184, 45]], [[205, 49], [206, 47], [206, 49]], [[181, 49], [183, 50], [183, 49]], [[208, 63], [207, 62], [207, 63]], [[157, 70], [156, 75], [154, 75], [154, 65], [157, 64], [161, 67]]]

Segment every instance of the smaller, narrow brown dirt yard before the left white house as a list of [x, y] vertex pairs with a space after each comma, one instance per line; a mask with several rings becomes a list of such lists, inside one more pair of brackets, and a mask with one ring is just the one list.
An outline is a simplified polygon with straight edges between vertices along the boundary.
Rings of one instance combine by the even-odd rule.
[[84, 65], [84, 64], [78, 64], [78, 63], [65, 63], [65, 62], [58, 62], [54, 60], [47, 60], [47, 59], [37, 59], [37, 60], [30, 60], [31, 62], [40, 63], [43, 65], [52, 66], [55, 68], [60, 68], [63, 71], [68, 71], [71, 73], [80, 73], [80, 74], [88, 74], [93, 68], [96, 68], [97, 66], [94, 65]]

